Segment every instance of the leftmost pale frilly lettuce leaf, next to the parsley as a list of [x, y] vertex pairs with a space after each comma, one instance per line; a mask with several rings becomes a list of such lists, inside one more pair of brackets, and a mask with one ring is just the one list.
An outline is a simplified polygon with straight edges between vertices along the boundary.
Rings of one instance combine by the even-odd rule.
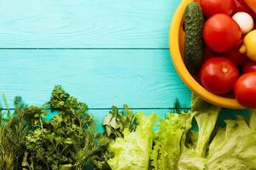
[[153, 113], [145, 116], [139, 112], [136, 117], [139, 122], [136, 131], [130, 132], [125, 128], [124, 138], [117, 138], [109, 145], [109, 151], [113, 152], [114, 157], [108, 160], [108, 164], [113, 170], [148, 169], [154, 138], [153, 127], [158, 116]]

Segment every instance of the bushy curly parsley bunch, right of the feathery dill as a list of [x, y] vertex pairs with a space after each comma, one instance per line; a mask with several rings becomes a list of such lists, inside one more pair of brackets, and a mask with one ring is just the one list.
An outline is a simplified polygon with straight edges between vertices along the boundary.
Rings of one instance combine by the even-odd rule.
[[87, 113], [87, 105], [56, 86], [44, 107], [59, 113], [49, 121], [40, 121], [45, 114], [34, 114], [34, 130], [26, 136], [23, 167], [66, 170], [89, 166], [108, 139], [96, 132], [96, 122]]

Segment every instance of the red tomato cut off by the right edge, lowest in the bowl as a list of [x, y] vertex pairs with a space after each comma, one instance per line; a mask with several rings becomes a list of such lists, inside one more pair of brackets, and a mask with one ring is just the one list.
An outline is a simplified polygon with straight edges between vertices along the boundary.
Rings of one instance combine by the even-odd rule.
[[235, 95], [240, 105], [256, 108], [256, 72], [244, 74], [237, 80]]

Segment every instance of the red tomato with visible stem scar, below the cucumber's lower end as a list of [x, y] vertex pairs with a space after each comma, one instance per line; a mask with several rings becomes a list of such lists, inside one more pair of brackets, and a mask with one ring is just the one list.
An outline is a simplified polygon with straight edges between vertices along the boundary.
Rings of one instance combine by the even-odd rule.
[[201, 67], [200, 80], [204, 88], [213, 94], [228, 94], [238, 78], [236, 66], [224, 57], [208, 59]]

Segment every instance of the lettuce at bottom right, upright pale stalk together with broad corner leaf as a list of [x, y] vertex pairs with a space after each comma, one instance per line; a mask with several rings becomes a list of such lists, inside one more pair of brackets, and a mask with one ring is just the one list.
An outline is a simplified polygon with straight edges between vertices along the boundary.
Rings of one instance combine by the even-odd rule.
[[[212, 112], [212, 113], [211, 113]], [[212, 136], [218, 111], [199, 111], [195, 119], [199, 137], [195, 149], [182, 153], [180, 170], [253, 170], [256, 169], [256, 111], [248, 121], [238, 117], [227, 120], [225, 128], [218, 128]], [[247, 123], [248, 122], [248, 123]]]

